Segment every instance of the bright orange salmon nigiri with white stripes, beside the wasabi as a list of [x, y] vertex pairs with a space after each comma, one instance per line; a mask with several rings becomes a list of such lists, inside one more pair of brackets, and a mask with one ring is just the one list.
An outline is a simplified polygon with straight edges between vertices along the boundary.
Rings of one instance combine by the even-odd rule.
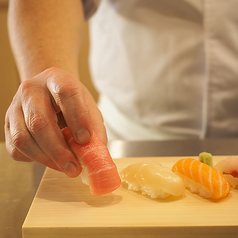
[[221, 199], [231, 190], [223, 174], [196, 159], [181, 159], [173, 165], [172, 171], [183, 178], [191, 192], [205, 198]]

